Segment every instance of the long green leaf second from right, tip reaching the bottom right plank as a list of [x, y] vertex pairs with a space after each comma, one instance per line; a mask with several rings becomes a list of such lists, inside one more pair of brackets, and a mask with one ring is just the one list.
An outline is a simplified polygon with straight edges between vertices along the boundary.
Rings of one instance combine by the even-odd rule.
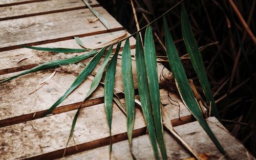
[[196, 98], [189, 85], [185, 70], [181, 64], [178, 52], [175, 48], [172, 35], [170, 35], [169, 28], [165, 18], [164, 18], [164, 31], [165, 31], [166, 54], [168, 57], [170, 68], [172, 70], [173, 76], [176, 81], [177, 88], [182, 98], [182, 101], [184, 102], [188, 110], [197, 119], [200, 125], [203, 127], [203, 129], [208, 134], [210, 139], [215, 143], [215, 145], [220, 149], [220, 151], [224, 155], [226, 155], [227, 154], [226, 151], [222, 148], [216, 136], [214, 135], [214, 133], [212, 133], [210, 127], [208, 126], [207, 122], [203, 118], [199, 104], [196, 101]]

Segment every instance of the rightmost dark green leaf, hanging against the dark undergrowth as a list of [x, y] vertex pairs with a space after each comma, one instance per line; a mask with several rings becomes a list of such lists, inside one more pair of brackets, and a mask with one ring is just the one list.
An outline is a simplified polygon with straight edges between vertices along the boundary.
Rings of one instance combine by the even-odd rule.
[[197, 41], [194, 37], [184, 4], [182, 4], [181, 8], [181, 29], [187, 52], [189, 54], [192, 65], [194, 66], [194, 69], [197, 73], [208, 105], [211, 105], [211, 115], [215, 116], [220, 121], [218, 109], [215, 104], [214, 96], [212, 95], [210, 84], [205, 72], [202, 55], [199, 51]]

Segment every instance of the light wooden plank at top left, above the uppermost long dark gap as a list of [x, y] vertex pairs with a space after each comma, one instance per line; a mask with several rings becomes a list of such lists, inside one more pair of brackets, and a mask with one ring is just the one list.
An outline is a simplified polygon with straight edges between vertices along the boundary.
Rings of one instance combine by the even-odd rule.
[[[97, 7], [97, 1], [91, 1], [92, 7]], [[21, 17], [29, 17], [41, 14], [49, 14], [87, 8], [80, 0], [50, 0], [34, 2], [30, 4], [20, 4], [15, 6], [7, 6], [0, 8], [0, 20], [15, 19]]]

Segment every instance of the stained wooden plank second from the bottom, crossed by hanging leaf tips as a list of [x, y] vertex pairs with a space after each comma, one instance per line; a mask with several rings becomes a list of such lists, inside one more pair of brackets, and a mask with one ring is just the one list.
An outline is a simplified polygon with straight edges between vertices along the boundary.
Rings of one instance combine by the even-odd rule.
[[[171, 96], [180, 102], [176, 96]], [[166, 90], [161, 90], [161, 100], [167, 104], [164, 106], [165, 110], [171, 113], [170, 119], [175, 120], [173, 121], [174, 125], [177, 125], [175, 122], [179, 120], [179, 107], [168, 102]], [[190, 115], [184, 105], [181, 104], [180, 109], [182, 118]], [[36, 156], [32, 159], [51, 159], [61, 157], [75, 113], [76, 110], [72, 110], [0, 128], [2, 158], [22, 159]], [[140, 108], [136, 107], [135, 115], [134, 136], [145, 134], [145, 123]], [[115, 104], [113, 105], [112, 135], [113, 142], [127, 139], [126, 118]], [[81, 109], [74, 138], [78, 151], [109, 144], [109, 128], [106, 122], [104, 104]], [[67, 153], [76, 152], [74, 143], [71, 141]]]

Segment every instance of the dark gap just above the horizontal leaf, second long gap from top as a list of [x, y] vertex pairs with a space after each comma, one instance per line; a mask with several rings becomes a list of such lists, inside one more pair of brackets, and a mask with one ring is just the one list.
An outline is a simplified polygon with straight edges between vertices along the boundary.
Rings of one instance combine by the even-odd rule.
[[[72, 35], [72, 36], [62, 37], [62, 38], [42, 40], [42, 41], [37, 41], [37, 42], [32, 42], [32, 43], [25, 43], [23, 45], [40, 45], [40, 44], [57, 42], [57, 41], [69, 40], [69, 39], [73, 39], [74, 37], [86, 37], [86, 36], [92, 36], [92, 35], [97, 35], [97, 34], [116, 32], [116, 31], [121, 31], [121, 30], [123, 30], [123, 27], [113, 28], [113, 29], [104, 30], [104, 31], [96, 31], [96, 32], [91, 32], [91, 33], [86, 33], [86, 34]], [[20, 45], [21, 44], [13, 45], [13, 46], [10, 46], [10, 47], [0, 48], [0, 52], [20, 49], [21, 48]]]

